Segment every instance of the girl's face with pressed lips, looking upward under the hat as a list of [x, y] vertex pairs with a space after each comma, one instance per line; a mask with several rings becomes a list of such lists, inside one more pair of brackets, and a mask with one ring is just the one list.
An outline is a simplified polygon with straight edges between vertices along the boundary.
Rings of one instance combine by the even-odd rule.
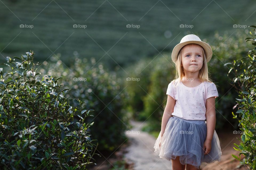
[[183, 47], [181, 65], [186, 73], [198, 72], [203, 66], [202, 47], [198, 44], [187, 44]]

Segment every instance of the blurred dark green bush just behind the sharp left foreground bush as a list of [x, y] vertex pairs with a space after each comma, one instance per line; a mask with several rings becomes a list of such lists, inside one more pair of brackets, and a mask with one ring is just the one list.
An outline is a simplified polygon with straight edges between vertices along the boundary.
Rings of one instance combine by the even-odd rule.
[[[54, 59], [52, 59], [54, 60]], [[122, 79], [116, 73], [109, 73], [102, 63], [94, 58], [74, 56], [74, 63], [68, 69], [60, 60], [54, 63], [45, 63], [45, 74], [63, 73], [61, 84], [71, 87], [67, 96], [85, 101], [85, 109], [94, 108], [94, 117], [85, 118], [86, 122], [94, 122], [88, 130], [93, 134], [92, 139], [98, 140], [98, 148], [113, 152], [126, 141], [125, 130], [129, 129], [129, 114], [124, 109], [124, 100], [127, 98], [123, 89]], [[75, 104], [75, 103], [74, 103]]]

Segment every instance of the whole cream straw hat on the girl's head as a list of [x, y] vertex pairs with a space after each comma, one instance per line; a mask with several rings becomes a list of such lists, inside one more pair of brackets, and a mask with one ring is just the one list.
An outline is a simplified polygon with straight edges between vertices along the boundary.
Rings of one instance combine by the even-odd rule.
[[171, 59], [173, 60], [174, 63], [176, 63], [177, 61], [179, 50], [181, 50], [183, 46], [192, 43], [201, 45], [203, 47], [206, 53], [206, 62], [209, 62], [211, 60], [211, 57], [213, 56], [213, 50], [211, 49], [211, 46], [201, 41], [201, 39], [198, 36], [194, 34], [189, 34], [184, 36], [181, 39], [181, 42], [173, 48], [173, 52], [171, 53]]

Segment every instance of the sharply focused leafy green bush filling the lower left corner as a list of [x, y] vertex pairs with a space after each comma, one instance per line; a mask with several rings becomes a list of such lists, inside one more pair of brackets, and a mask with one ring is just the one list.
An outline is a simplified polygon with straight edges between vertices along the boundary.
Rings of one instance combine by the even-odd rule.
[[91, 117], [93, 110], [82, 109], [81, 100], [70, 105], [61, 77], [40, 75], [33, 52], [6, 59], [10, 70], [0, 69], [1, 168], [86, 169], [95, 140], [82, 116]]

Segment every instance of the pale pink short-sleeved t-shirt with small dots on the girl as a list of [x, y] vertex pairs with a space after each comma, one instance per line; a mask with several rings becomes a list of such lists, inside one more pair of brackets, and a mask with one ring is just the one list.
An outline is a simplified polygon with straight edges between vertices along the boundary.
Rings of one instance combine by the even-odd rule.
[[169, 83], [166, 94], [176, 100], [172, 115], [186, 120], [205, 120], [206, 99], [219, 96], [215, 84], [207, 81], [196, 87], [187, 87], [182, 82], [173, 80]]

